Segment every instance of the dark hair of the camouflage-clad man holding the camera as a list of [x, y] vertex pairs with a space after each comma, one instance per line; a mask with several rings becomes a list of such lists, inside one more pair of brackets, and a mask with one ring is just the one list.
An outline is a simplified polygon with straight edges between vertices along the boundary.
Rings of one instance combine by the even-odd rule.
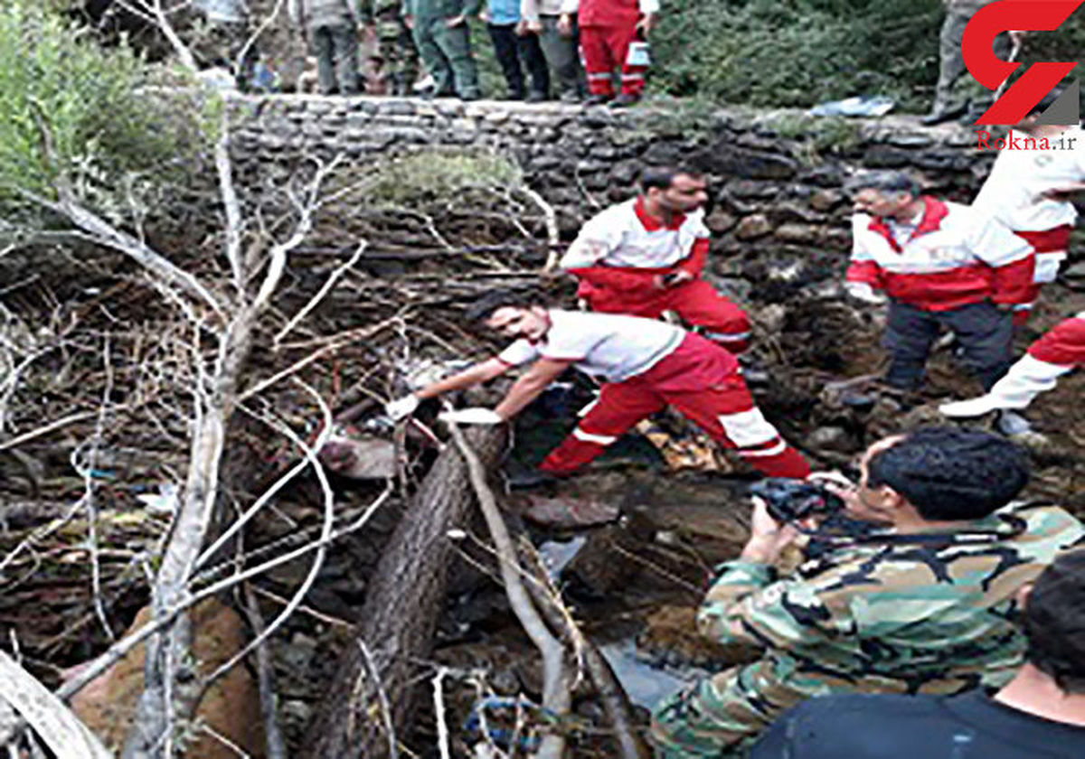
[[924, 519], [979, 519], [1029, 484], [1029, 456], [1009, 440], [961, 427], [922, 427], [867, 462], [867, 485], [888, 485]]

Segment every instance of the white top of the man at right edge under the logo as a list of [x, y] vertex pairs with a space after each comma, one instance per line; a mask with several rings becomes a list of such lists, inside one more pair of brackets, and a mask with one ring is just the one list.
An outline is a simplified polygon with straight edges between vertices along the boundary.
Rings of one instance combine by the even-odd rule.
[[[1085, 131], [1070, 127], [1062, 134], [1046, 139], [1048, 150], [1000, 151], [972, 207], [994, 216], [1016, 232], [1043, 232], [1074, 223], [1077, 211], [1072, 203], [1048, 201], [1039, 195], [1085, 181]], [[1007, 141], [1011, 140], [1021, 144], [1026, 140], [1039, 142], [1016, 131], [1007, 136]], [[1073, 149], [1068, 150], [1071, 140]], [[1063, 150], [1055, 150], [1060, 144]]]

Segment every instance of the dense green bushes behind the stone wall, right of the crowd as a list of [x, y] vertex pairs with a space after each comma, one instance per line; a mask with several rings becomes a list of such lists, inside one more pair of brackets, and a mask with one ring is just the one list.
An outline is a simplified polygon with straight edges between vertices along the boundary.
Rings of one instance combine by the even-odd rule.
[[921, 108], [941, 21], [940, 0], [689, 0], [653, 33], [653, 87], [756, 106], [880, 93]]

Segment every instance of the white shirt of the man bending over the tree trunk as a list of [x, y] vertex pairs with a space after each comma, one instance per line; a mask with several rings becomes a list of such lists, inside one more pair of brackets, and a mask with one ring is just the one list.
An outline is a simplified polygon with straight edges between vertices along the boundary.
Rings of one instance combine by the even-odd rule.
[[669, 356], [686, 331], [655, 319], [551, 309], [550, 330], [537, 343], [521, 337], [497, 358], [510, 366], [536, 359], [573, 361], [586, 374], [624, 382]]

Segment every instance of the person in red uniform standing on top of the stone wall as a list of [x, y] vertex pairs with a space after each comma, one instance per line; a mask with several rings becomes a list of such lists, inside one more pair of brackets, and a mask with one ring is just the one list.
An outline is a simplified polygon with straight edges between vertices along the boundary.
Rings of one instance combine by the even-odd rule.
[[[611, 101], [631, 105], [644, 91], [648, 72], [648, 35], [655, 25], [660, 0], [565, 0], [563, 27], [576, 13], [580, 29], [580, 57], [588, 78], [587, 105]], [[614, 99], [614, 69], [622, 72], [622, 91]]]

